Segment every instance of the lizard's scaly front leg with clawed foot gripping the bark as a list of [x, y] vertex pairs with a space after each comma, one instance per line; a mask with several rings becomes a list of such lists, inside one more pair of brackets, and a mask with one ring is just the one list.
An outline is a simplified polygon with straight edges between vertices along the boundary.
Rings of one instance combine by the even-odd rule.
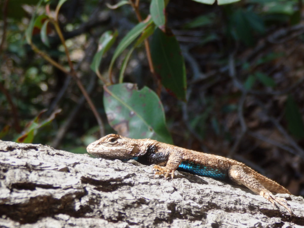
[[174, 171], [178, 168], [182, 161], [182, 153], [179, 151], [172, 151], [169, 154], [166, 166], [154, 165], [152, 171], [155, 171], [155, 175], [164, 174], [164, 178], [167, 179], [171, 173], [171, 178], [174, 178]]

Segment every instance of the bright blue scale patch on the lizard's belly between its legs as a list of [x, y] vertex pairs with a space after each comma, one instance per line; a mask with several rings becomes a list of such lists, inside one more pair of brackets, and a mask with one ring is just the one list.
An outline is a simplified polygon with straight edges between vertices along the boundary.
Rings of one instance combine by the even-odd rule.
[[225, 179], [227, 177], [225, 173], [222, 173], [218, 169], [213, 169], [200, 164], [194, 164], [193, 162], [188, 161], [183, 161], [178, 168], [180, 168], [181, 171], [205, 177], [212, 177], [216, 179]]

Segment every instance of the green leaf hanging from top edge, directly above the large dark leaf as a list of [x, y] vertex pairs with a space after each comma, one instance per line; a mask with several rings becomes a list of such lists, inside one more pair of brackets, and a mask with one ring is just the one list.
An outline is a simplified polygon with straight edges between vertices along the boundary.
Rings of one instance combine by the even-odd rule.
[[150, 14], [153, 22], [158, 27], [165, 25], [165, 2], [164, 0], [152, 0], [150, 4]]

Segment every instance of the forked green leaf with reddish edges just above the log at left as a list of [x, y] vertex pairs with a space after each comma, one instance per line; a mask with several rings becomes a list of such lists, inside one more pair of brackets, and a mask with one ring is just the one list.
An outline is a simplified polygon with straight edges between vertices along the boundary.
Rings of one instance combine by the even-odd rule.
[[47, 109], [43, 109], [33, 121], [29, 122], [25, 130], [14, 141], [17, 143], [32, 143], [38, 129], [52, 122], [56, 115], [61, 112], [61, 109], [55, 110], [49, 118], [39, 123], [41, 115], [46, 111]]

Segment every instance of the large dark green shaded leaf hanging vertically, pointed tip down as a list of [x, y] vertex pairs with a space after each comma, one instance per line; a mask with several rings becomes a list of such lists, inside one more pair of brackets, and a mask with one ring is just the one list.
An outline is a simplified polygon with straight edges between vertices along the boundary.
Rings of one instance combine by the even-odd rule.
[[185, 101], [185, 62], [175, 36], [166, 35], [157, 28], [151, 40], [151, 56], [155, 73], [167, 91]]

